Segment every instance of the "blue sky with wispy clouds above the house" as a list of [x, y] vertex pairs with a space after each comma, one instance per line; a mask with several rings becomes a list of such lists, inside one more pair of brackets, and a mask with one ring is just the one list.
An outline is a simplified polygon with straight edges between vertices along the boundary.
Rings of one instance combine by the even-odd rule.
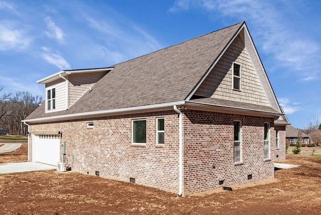
[[321, 117], [321, 1], [0, 0], [1, 92], [44, 97], [36, 81], [108, 67], [245, 21], [290, 123]]

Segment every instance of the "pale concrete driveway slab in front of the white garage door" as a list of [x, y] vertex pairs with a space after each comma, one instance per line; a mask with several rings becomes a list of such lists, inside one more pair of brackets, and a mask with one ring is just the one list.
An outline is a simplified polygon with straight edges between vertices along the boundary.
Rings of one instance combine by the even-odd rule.
[[0, 163], [0, 174], [14, 172], [31, 172], [49, 169], [57, 169], [57, 167], [37, 162]]

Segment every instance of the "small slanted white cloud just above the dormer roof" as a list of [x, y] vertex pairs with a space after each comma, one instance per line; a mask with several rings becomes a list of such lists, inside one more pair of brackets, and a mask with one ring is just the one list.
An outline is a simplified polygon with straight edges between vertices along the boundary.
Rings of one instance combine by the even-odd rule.
[[42, 47], [44, 51], [42, 57], [50, 64], [57, 66], [59, 69], [70, 69], [69, 63], [61, 56], [59, 52], [53, 52], [50, 48]]

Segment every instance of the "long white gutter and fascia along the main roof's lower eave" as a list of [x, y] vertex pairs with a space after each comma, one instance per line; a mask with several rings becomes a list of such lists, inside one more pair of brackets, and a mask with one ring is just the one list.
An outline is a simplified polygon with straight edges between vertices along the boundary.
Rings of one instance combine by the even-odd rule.
[[155, 109], [173, 109], [174, 105], [184, 105], [185, 101], [174, 101], [168, 103], [159, 103], [159, 104], [150, 104], [143, 106], [135, 106], [135, 107], [125, 107], [121, 109], [113, 109], [106, 111], [96, 111], [96, 112], [86, 112], [79, 114], [69, 114], [62, 116], [54, 116], [54, 117], [44, 117], [37, 118], [31, 120], [23, 120], [25, 123], [44, 123], [44, 122], [56, 122], [56, 121], [66, 121], [66, 120], [75, 120], [75, 119], [85, 119], [85, 118], [96, 118], [103, 116], [112, 116], [112, 115], [124, 115], [131, 113], [141, 113], [142, 111], [155, 111]]

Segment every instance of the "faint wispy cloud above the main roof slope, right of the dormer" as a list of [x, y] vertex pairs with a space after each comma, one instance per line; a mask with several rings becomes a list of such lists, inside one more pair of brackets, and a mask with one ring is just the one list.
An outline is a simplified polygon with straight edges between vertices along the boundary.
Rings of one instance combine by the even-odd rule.
[[[122, 62], [161, 48], [153, 36], [121, 15], [114, 14], [114, 20], [100, 20], [88, 15], [84, 17], [97, 38], [96, 44], [94, 41], [91, 44], [92, 47], [98, 47], [95, 55], [100, 53], [109, 62]], [[91, 53], [92, 47], [86, 52]]]

